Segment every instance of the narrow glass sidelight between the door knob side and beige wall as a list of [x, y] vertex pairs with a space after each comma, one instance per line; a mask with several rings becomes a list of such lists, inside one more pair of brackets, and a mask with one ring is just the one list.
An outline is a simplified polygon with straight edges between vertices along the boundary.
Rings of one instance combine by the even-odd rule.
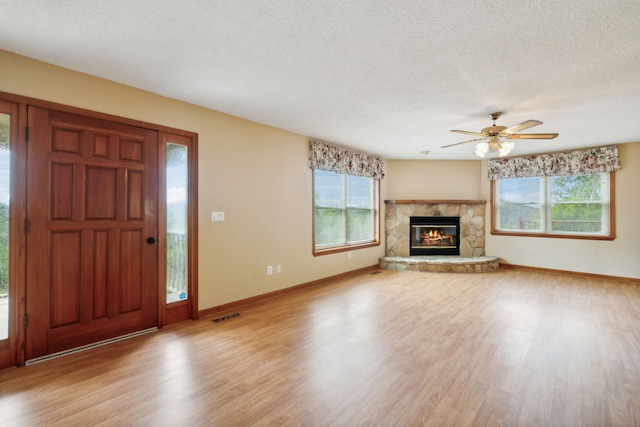
[[167, 304], [189, 297], [187, 150], [167, 143]]

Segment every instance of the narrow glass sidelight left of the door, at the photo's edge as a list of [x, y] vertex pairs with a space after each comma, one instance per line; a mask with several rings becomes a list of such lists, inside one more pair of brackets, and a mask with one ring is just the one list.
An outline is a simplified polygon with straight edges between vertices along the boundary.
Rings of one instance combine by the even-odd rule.
[[0, 340], [9, 338], [10, 117], [0, 113]]

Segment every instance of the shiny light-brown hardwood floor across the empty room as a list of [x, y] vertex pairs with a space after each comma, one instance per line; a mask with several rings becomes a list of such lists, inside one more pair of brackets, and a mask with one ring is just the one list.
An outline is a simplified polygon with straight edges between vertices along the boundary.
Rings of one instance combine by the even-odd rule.
[[640, 425], [640, 286], [381, 271], [0, 372], [0, 425]]

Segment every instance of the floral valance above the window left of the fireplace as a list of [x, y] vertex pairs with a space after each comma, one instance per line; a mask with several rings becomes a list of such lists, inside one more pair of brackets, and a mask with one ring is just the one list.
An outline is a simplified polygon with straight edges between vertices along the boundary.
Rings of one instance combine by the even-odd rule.
[[309, 141], [309, 166], [311, 169], [374, 179], [384, 178], [384, 160], [382, 158], [314, 140]]

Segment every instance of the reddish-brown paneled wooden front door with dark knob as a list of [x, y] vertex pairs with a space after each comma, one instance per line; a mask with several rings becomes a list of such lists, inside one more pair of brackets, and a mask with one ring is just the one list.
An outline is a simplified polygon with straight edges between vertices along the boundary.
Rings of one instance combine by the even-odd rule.
[[158, 324], [158, 133], [29, 107], [25, 355]]

